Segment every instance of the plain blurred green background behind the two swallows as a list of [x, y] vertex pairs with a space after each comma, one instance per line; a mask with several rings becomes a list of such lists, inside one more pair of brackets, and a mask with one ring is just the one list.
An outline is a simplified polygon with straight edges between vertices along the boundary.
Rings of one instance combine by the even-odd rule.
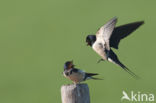
[[[87, 81], [92, 103], [120, 103], [122, 91], [156, 94], [156, 1], [154, 0], [1, 0], [0, 103], [61, 103], [63, 64], [99, 73], [103, 81]], [[114, 50], [142, 79], [100, 58], [86, 46], [110, 18], [117, 25], [145, 24]], [[124, 101], [125, 103], [126, 101]], [[129, 102], [127, 102], [129, 103]]]

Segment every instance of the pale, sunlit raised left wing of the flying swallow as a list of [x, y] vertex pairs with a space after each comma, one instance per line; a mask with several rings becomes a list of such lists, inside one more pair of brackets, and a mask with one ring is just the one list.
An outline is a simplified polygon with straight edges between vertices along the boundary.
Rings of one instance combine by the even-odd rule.
[[116, 22], [117, 18], [112, 18], [105, 25], [103, 25], [96, 33], [97, 41], [100, 41], [101, 43], [105, 44], [107, 50], [110, 50], [109, 39], [112, 35]]

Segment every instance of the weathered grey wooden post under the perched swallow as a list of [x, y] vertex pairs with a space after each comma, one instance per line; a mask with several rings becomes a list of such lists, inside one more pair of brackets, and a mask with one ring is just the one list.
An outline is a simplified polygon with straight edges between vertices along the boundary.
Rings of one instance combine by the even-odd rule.
[[90, 103], [87, 84], [69, 84], [61, 87], [62, 103]]

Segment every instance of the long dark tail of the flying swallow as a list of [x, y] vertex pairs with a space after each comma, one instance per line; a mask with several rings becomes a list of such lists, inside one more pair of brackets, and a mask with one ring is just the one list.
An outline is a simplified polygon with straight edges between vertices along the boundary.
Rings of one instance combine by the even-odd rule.
[[135, 73], [133, 73], [130, 69], [128, 69], [125, 65], [123, 65], [118, 57], [116, 56], [116, 54], [110, 50], [109, 51], [109, 57], [108, 57], [108, 61], [114, 63], [114, 64], [117, 64], [119, 65], [121, 68], [123, 68], [126, 72], [128, 72], [132, 77], [134, 77], [135, 79], [139, 79], [140, 77], [137, 76]]

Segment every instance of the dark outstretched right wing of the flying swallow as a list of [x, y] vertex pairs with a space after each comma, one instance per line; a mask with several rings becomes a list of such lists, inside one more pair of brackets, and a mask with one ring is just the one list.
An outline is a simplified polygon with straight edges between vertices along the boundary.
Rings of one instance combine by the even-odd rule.
[[138, 21], [138, 22], [129, 23], [129, 24], [116, 27], [110, 38], [110, 46], [115, 49], [118, 49], [120, 40], [130, 35], [137, 28], [139, 28], [142, 24], [144, 24], [144, 21]]

